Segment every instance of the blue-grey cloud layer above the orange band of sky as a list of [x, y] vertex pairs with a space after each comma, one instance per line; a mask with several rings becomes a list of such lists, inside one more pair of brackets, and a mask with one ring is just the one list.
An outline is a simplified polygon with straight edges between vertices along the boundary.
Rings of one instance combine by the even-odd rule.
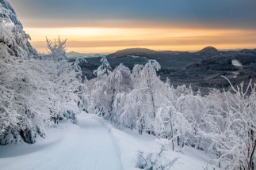
[[255, 29], [248, 0], [10, 0], [25, 27]]

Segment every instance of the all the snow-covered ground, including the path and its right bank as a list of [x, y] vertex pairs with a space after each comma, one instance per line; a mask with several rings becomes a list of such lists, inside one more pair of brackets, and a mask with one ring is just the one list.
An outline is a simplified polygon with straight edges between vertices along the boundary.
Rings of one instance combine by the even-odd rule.
[[[136, 130], [117, 130], [97, 115], [78, 115], [79, 125], [62, 121], [63, 128], [47, 129], [46, 139], [36, 143], [0, 146], [0, 169], [136, 169], [136, 152], [156, 152], [154, 136], [139, 135]], [[176, 146], [176, 148], [178, 148]], [[171, 169], [203, 169], [209, 157], [204, 152], [186, 147], [184, 153], [171, 151], [166, 155], [179, 157]]]

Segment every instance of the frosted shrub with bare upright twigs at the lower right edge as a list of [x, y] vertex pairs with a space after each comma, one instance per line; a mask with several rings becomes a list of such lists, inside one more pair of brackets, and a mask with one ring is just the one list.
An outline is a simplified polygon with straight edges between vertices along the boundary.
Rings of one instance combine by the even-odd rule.
[[[212, 124], [211, 138], [219, 167], [221, 161], [226, 161], [229, 169], [255, 169], [255, 87], [251, 81], [246, 89], [243, 89], [243, 83], [237, 89], [231, 85], [235, 95], [226, 93], [227, 111], [223, 110], [225, 115], [222, 117], [226, 128], [223, 130]], [[247, 94], [249, 89], [250, 94]]]

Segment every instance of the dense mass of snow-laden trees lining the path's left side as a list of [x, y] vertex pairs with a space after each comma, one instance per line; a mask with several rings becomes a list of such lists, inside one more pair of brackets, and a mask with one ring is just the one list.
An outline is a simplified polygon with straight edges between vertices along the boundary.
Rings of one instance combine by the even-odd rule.
[[0, 35], [0, 145], [33, 143], [45, 137], [53, 114], [81, 111], [81, 69], [67, 62], [66, 41], [53, 47], [48, 41], [51, 55], [37, 56], [6, 0], [0, 1]]

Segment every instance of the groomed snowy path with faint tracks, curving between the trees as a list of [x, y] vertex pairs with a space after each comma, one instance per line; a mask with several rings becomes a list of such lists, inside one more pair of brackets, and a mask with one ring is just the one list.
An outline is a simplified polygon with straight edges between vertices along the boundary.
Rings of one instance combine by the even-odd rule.
[[120, 150], [101, 119], [80, 115], [78, 121], [79, 126], [63, 123], [64, 130], [48, 130], [48, 143], [0, 146], [0, 169], [123, 169]]

